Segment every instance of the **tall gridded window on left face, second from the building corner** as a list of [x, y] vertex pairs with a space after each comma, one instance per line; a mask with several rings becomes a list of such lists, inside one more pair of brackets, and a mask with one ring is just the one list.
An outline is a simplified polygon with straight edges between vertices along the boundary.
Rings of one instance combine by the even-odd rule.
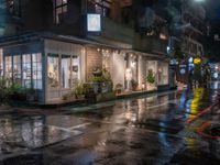
[[31, 55], [25, 54], [22, 56], [22, 85], [26, 88], [31, 88]]

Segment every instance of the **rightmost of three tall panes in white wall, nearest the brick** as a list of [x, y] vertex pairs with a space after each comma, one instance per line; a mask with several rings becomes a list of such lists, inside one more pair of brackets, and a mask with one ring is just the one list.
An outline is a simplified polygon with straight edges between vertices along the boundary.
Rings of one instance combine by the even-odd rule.
[[78, 82], [78, 80], [80, 79], [79, 57], [78, 56], [73, 56], [72, 72], [73, 72], [72, 81], [73, 81], [73, 85], [76, 85]]

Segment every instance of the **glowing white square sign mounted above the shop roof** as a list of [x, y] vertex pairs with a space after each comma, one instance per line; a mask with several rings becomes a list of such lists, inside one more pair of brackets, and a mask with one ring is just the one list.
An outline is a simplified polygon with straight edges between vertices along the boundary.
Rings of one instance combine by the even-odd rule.
[[87, 14], [87, 31], [88, 32], [101, 31], [101, 15], [100, 14]]

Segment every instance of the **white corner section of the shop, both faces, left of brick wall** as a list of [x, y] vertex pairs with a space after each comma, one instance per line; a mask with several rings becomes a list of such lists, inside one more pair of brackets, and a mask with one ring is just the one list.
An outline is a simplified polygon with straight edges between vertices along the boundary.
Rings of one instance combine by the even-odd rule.
[[0, 48], [0, 76], [35, 89], [38, 102], [61, 100], [85, 80], [84, 58], [85, 47], [70, 42], [44, 38], [7, 45]]

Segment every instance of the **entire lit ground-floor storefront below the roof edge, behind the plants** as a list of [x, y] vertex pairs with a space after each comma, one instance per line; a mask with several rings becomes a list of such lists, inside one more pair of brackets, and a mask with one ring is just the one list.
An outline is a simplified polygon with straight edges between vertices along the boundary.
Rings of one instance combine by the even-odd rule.
[[[9, 84], [35, 89], [42, 103], [62, 100], [79, 81], [90, 81], [96, 68], [110, 73], [113, 89], [155, 90], [168, 85], [168, 63], [128, 50], [75, 37], [38, 36], [1, 46], [0, 76]], [[151, 87], [150, 73], [154, 79]]]

